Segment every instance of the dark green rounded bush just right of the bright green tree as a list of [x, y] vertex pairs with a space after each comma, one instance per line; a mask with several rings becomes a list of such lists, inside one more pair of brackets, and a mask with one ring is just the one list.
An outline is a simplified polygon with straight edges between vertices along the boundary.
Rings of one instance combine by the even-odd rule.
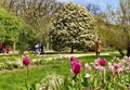
[[34, 46], [37, 43], [34, 35], [34, 29], [29, 25], [23, 24], [17, 41], [17, 49], [20, 50], [20, 54], [23, 54], [27, 49], [34, 49]]

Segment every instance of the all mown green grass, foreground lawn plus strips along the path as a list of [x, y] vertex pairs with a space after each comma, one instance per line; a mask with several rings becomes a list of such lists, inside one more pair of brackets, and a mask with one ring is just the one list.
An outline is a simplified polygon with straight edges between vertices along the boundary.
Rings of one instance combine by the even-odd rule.
[[[17, 55], [16, 55], [17, 56]], [[107, 61], [110, 61], [114, 55], [102, 55], [100, 57], [105, 57]], [[1, 56], [2, 57], [2, 56]], [[0, 57], [0, 59], [1, 59]], [[31, 57], [36, 57], [31, 55]], [[82, 63], [93, 62], [99, 56], [89, 55], [81, 56], [78, 60], [82, 61]], [[69, 73], [70, 62], [68, 59], [63, 60], [53, 60], [43, 65], [39, 65], [32, 68], [29, 68], [29, 79], [28, 83], [31, 85], [34, 82], [40, 82], [40, 80], [48, 74], [55, 73], [57, 75], [63, 76], [73, 76]], [[25, 78], [26, 78], [26, 69], [18, 69], [12, 72], [0, 72], [0, 90], [26, 90], [25, 88]]]

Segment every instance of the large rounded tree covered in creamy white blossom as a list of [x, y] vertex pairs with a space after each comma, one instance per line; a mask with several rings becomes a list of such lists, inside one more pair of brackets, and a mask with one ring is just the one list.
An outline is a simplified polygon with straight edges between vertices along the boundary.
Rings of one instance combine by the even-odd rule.
[[90, 49], [98, 38], [94, 29], [94, 17], [88, 10], [78, 4], [68, 3], [55, 14], [50, 31], [52, 47], [55, 51], [74, 49]]

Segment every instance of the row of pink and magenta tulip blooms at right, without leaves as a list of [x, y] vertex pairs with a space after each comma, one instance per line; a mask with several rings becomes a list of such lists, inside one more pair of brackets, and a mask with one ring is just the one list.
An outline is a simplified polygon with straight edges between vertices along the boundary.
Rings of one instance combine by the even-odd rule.
[[[82, 69], [82, 65], [81, 65], [81, 61], [77, 61], [75, 56], [70, 57], [70, 62], [72, 62], [72, 69], [70, 72], [73, 74], [79, 74]], [[112, 60], [113, 63], [107, 63], [106, 59], [98, 59], [94, 61], [94, 63], [92, 63], [92, 67], [93, 69], [99, 69], [102, 73], [104, 73], [106, 69], [108, 69], [108, 72], [110, 72], [113, 75], [117, 75], [122, 73], [126, 69], [130, 69], [130, 57], [126, 56], [123, 61], [120, 61], [119, 57], [114, 57]], [[127, 63], [127, 65], [126, 65]], [[108, 68], [105, 68], [105, 66], [108, 65]], [[90, 72], [91, 65], [89, 63], [84, 64], [84, 68]]]

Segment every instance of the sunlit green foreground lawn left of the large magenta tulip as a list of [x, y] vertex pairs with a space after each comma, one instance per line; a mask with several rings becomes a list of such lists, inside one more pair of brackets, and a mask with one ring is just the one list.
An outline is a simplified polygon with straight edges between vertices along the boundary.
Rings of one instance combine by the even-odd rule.
[[[28, 83], [40, 82], [40, 80], [51, 73], [67, 76], [69, 67], [64, 65], [47, 65], [29, 69]], [[26, 69], [0, 73], [0, 90], [25, 90]]]

